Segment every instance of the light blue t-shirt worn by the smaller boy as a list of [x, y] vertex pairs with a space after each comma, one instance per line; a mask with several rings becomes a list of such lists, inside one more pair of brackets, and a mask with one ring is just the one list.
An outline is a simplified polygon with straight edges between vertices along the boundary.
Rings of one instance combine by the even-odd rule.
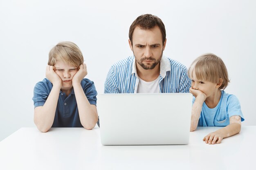
[[[195, 97], [193, 97], [193, 104], [194, 102]], [[227, 126], [229, 117], [234, 115], [240, 116], [241, 121], [245, 120], [238, 98], [221, 91], [220, 101], [215, 108], [209, 108], [205, 102], [203, 103], [198, 126]]]

